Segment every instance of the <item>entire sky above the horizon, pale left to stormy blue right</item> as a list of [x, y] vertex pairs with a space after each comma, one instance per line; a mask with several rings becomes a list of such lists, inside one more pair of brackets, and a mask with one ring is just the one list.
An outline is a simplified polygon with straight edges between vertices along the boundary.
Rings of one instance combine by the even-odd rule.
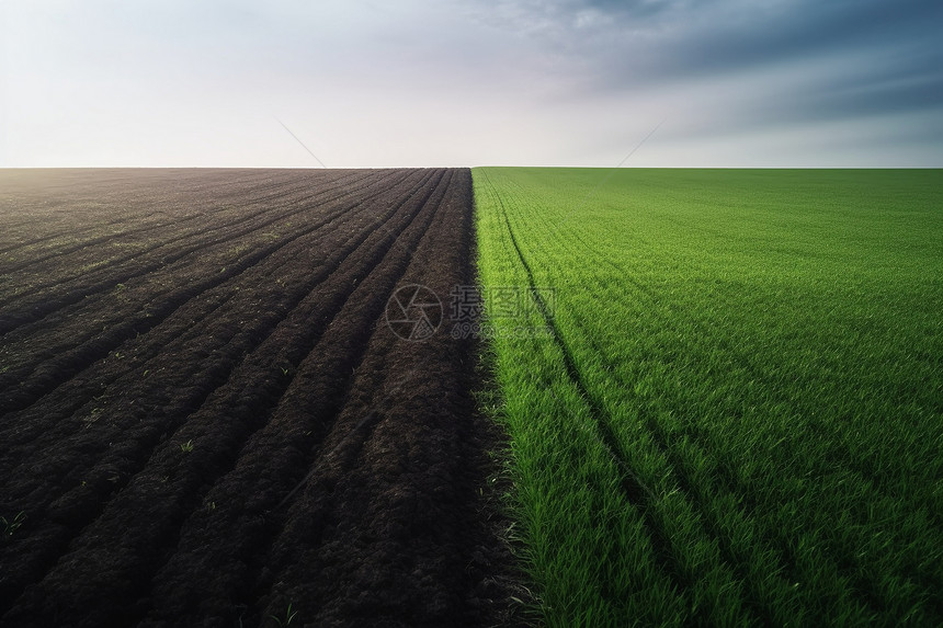
[[0, 167], [943, 167], [940, 0], [0, 0]]

